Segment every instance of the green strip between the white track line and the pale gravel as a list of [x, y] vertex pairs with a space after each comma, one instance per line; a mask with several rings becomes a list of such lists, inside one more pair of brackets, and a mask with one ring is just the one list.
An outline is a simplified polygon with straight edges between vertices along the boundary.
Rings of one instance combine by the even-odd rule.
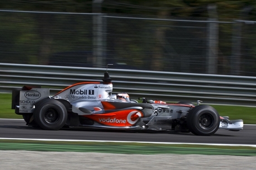
[[250, 146], [209, 146], [154, 144], [136, 142], [69, 142], [0, 140], [0, 150], [98, 152], [122, 154], [208, 154], [256, 156], [256, 148]]

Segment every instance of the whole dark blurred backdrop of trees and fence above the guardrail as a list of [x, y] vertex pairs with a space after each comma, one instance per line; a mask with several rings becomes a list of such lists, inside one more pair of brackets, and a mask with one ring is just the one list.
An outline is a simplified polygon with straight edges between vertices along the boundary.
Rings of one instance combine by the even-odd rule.
[[256, 76], [256, 1], [8, 0], [0, 63]]

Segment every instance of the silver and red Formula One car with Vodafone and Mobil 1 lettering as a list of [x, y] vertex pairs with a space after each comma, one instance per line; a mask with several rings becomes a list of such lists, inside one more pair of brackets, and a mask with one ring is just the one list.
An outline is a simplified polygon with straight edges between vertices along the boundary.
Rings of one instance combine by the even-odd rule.
[[118, 130], [180, 131], [213, 135], [218, 128], [239, 131], [243, 120], [221, 117], [211, 106], [191, 102], [166, 104], [128, 94], [112, 94], [112, 79], [104, 74], [100, 82], [73, 84], [49, 96], [50, 90], [32, 86], [13, 89], [12, 109], [27, 125], [45, 130], [87, 127]]

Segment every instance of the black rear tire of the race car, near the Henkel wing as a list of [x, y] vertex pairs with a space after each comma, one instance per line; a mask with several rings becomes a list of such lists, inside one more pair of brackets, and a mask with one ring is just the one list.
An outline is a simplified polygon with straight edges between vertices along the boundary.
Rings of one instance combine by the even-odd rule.
[[45, 130], [59, 130], [67, 121], [67, 109], [61, 101], [45, 99], [35, 105], [34, 118]]

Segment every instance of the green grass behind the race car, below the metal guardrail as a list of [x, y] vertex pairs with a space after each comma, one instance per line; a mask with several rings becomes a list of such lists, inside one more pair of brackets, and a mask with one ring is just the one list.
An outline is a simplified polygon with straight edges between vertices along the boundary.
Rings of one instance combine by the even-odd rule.
[[[12, 95], [0, 94], [0, 118], [22, 119], [11, 109]], [[243, 119], [245, 124], [256, 123], [256, 107], [212, 105], [220, 116], [229, 116], [230, 120]]]

